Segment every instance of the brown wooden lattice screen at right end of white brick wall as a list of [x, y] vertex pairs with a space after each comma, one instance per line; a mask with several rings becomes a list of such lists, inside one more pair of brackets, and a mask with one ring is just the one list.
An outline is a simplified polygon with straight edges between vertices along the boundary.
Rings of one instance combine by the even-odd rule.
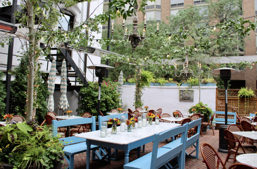
[[[236, 112], [240, 117], [249, 116], [257, 111], [257, 97], [249, 99], [248, 111], [245, 110], [245, 98], [240, 98], [238, 110], [239, 89], [228, 89], [228, 111]], [[255, 95], [257, 96], [257, 90]], [[225, 111], [225, 89], [216, 89], [216, 111]]]

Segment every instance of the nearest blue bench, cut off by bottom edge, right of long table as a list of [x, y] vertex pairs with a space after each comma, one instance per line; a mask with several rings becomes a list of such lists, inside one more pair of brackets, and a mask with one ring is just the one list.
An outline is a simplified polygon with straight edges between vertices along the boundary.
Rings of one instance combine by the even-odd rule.
[[[158, 148], [159, 142], [162, 142], [170, 137], [174, 137], [182, 133], [180, 141], [172, 142], [173, 146]], [[162, 166], [166, 168], [174, 168], [170, 165], [169, 161], [177, 158], [179, 161], [179, 169], [184, 167], [184, 144], [186, 141], [187, 131], [186, 124], [183, 126], [175, 127], [162, 133], [154, 134], [154, 142], [152, 152], [128, 163], [123, 166], [125, 169], [156, 169]]]

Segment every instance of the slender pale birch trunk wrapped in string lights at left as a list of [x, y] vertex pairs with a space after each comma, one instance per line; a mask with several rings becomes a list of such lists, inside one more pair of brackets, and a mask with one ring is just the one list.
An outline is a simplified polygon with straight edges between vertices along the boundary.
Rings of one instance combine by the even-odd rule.
[[27, 117], [26, 121], [29, 122], [32, 119], [33, 112], [33, 89], [34, 89], [34, 19], [33, 19], [33, 5], [29, 1], [27, 1], [28, 5], [28, 23], [29, 23], [29, 77], [28, 77], [28, 109], [27, 109]]

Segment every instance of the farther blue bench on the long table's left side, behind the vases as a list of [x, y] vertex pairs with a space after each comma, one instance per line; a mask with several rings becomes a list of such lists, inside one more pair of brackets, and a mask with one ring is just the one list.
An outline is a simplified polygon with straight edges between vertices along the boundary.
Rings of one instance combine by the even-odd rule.
[[[99, 119], [99, 130], [101, 129], [101, 125], [102, 125], [102, 122], [103, 121], [109, 121], [109, 118], [119, 118], [121, 119], [121, 116], [126, 116], [126, 118], [128, 118], [128, 113], [125, 113], [125, 114], [116, 114], [116, 115], [108, 115], [108, 116], [98, 116], [98, 119]], [[108, 118], [109, 117], [109, 118]], [[120, 131], [119, 131], [120, 132]], [[99, 148], [99, 153], [97, 152], [97, 150], [93, 150], [94, 154], [93, 154], [93, 157], [92, 159], [93, 160], [98, 160], [99, 158], [107, 158], [107, 152], [110, 151], [108, 150], [109, 148], [106, 148], [106, 147], [101, 147]], [[106, 151], [107, 152], [106, 152]], [[114, 161], [117, 161], [118, 160], [118, 150], [117, 149], [114, 149], [115, 151], [111, 154], [111, 156], [114, 154], [114, 158], [111, 158], [111, 160], [114, 160]], [[103, 154], [105, 156], [103, 156]], [[96, 156], [98, 158], [96, 158]]]

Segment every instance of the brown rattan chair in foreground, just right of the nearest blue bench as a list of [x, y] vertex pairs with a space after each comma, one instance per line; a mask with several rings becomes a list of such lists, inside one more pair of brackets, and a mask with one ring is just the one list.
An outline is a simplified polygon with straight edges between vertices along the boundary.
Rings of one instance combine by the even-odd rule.
[[[207, 169], [218, 169], [220, 163], [223, 166], [223, 169], [226, 169], [226, 166], [223, 164], [219, 154], [209, 144], [203, 143], [201, 145], [201, 153], [203, 158], [202, 162], [206, 164]], [[217, 162], [215, 160], [215, 156], [218, 158]], [[217, 166], [215, 166], [215, 164], [217, 164]]]

